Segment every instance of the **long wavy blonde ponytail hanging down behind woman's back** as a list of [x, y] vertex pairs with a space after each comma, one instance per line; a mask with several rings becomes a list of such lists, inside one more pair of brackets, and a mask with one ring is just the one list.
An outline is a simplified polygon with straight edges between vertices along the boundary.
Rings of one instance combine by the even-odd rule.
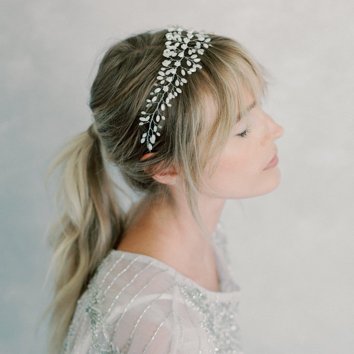
[[52, 161], [47, 174], [61, 167], [56, 202], [61, 213], [48, 240], [55, 253], [49, 352], [58, 353], [76, 302], [107, 253], [118, 246], [125, 214], [116, 201], [114, 182], [102, 158], [94, 125], [71, 139]]

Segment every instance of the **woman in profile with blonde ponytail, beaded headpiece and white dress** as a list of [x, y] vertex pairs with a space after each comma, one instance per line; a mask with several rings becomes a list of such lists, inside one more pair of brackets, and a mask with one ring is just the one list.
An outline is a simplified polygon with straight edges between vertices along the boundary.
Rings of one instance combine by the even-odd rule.
[[[95, 122], [52, 165], [63, 214], [50, 232], [51, 353], [241, 352], [218, 219], [225, 199], [279, 183], [283, 129], [261, 108], [264, 88], [223, 36], [175, 27], [107, 51]], [[127, 215], [108, 161], [142, 195]]]

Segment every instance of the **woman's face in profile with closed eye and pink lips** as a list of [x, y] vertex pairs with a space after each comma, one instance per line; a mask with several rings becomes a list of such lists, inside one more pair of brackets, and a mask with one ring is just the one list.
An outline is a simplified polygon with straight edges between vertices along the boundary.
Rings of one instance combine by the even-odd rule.
[[[249, 112], [233, 127], [219, 164], [202, 193], [226, 199], [249, 198], [268, 193], [280, 182], [274, 143], [284, 129], [256, 105], [245, 91]], [[211, 161], [207, 168], [211, 166]]]

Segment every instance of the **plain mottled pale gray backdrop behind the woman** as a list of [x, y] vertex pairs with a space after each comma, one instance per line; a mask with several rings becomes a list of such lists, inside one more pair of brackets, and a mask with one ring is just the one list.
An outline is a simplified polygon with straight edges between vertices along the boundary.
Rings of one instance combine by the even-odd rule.
[[[53, 209], [47, 165], [87, 129], [89, 88], [115, 40], [177, 23], [243, 43], [273, 75], [285, 128], [274, 192], [222, 221], [246, 354], [354, 353], [353, 0], [3, 1], [0, 5], [1, 353], [43, 353]], [[50, 195], [50, 196], [49, 196]]]

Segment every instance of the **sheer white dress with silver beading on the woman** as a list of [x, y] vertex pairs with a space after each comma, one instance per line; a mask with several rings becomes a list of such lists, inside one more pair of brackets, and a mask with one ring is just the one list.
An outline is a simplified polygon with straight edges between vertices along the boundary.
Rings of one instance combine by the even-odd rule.
[[220, 292], [155, 258], [112, 250], [79, 299], [61, 354], [240, 354], [225, 236], [212, 235]]

